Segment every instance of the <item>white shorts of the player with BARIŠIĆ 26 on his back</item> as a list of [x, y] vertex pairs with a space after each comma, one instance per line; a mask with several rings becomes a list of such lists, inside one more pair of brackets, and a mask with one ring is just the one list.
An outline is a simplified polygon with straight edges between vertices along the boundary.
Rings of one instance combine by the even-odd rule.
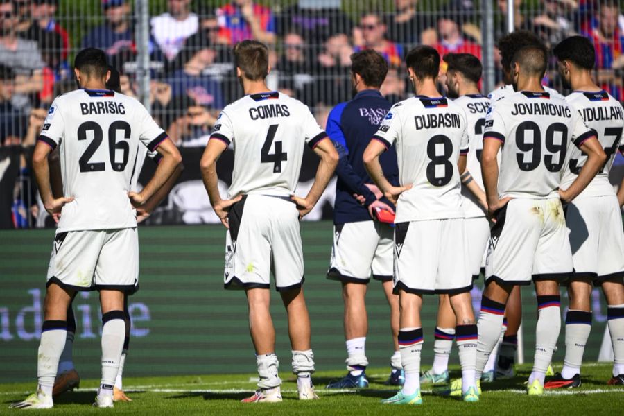
[[52, 283], [73, 291], [134, 292], [139, 288], [136, 228], [57, 233], [48, 266]]

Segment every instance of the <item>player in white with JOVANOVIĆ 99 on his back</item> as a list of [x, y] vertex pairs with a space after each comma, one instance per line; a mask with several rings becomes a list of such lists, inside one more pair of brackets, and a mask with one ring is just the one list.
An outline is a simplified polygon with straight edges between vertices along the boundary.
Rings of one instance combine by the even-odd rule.
[[[561, 327], [559, 284], [573, 270], [561, 200], [575, 198], [605, 162], [600, 142], [580, 114], [541, 86], [546, 58], [544, 46], [517, 51], [512, 60], [517, 92], [489, 108], [481, 155], [488, 211], [496, 224], [485, 263], [487, 287], [478, 320], [477, 375], [499, 340], [512, 287], [535, 281], [538, 318], [529, 395], [544, 392]], [[560, 189], [572, 144], [587, 153], [587, 162], [570, 187]]]

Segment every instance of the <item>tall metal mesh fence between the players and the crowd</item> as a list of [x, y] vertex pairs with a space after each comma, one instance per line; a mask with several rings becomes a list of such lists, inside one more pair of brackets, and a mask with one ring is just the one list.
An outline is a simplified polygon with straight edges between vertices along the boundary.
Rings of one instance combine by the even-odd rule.
[[[0, 0], [0, 27], [2, 146], [34, 144], [53, 98], [76, 88], [71, 63], [86, 46], [106, 51], [122, 92], [139, 97], [179, 146], [204, 146], [220, 108], [242, 95], [231, 48], [247, 38], [270, 45], [268, 85], [304, 101], [321, 125], [352, 96], [354, 51], [388, 60], [390, 101], [411, 94], [402, 59], [417, 44], [478, 56], [488, 92], [502, 80], [496, 42], [520, 28], [548, 46], [590, 37], [598, 83], [624, 99], [618, 0]], [[561, 89], [554, 68], [545, 81]], [[17, 159], [17, 185], [6, 175], [0, 184], [12, 200], [0, 205], [11, 206], [13, 226], [31, 227], [38, 208], [28, 152]]]

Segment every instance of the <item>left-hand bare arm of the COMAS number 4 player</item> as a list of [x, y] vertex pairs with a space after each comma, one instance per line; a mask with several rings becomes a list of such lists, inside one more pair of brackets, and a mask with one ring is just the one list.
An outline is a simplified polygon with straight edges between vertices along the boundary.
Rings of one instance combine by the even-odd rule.
[[216, 173], [216, 161], [219, 159], [221, 154], [225, 152], [225, 149], [227, 149], [227, 145], [223, 143], [223, 141], [209, 140], [200, 161], [200, 169], [202, 171], [204, 187], [206, 188], [208, 198], [210, 199], [210, 205], [212, 205], [212, 209], [214, 209], [214, 212], [221, 220], [221, 223], [225, 225], [225, 228], [229, 228], [227, 223], [227, 213], [229, 212], [230, 207], [232, 207], [232, 205], [236, 202], [239, 202], [243, 196], [239, 195], [231, 200], [221, 199], [218, 187], [219, 178]]

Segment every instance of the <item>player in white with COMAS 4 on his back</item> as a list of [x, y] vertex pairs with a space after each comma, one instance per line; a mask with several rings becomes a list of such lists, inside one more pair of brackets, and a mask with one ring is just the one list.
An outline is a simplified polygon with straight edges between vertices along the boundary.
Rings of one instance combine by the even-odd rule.
[[[245, 40], [234, 46], [236, 75], [245, 96], [227, 105], [201, 160], [210, 203], [227, 227], [225, 288], [243, 289], [260, 381], [243, 402], [281, 401], [275, 328], [269, 311], [270, 272], [288, 313], [293, 372], [299, 398], [318, 399], [311, 383], [314, 357], [302, 284], [304, 264], [299, 220], [314, 207], [338, 164], [338, 152], [308, 107], [266, 86], [268, 49]], [[306, 198], [293, 196], [304, 144], [320, 157]], [[216, 161], [234, 148], [232, 184], [226, 200], [217, 187]]]

